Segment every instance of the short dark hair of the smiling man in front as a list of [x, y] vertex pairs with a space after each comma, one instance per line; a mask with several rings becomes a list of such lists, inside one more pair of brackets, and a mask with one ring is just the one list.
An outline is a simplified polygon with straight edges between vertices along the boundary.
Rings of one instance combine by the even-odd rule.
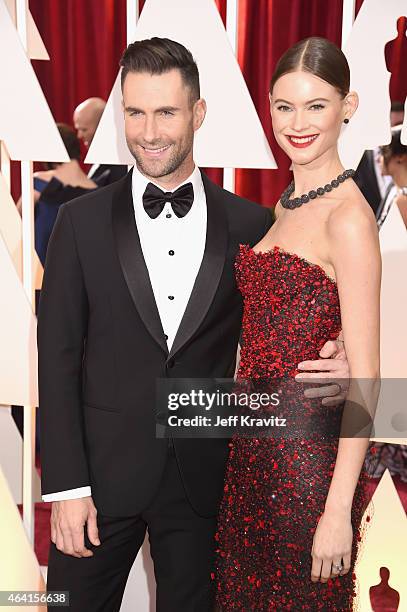
[[131, 43], [124, 51], [120, 66], [121, 87], [129, 72], [147, 72], [164, 74], [170, 70], [179, 70], [184, 84], [189, 87], [191, 101], [201, 97], [198, 67], [192, 54], [184, 45], [169, 38], [150, 38]]

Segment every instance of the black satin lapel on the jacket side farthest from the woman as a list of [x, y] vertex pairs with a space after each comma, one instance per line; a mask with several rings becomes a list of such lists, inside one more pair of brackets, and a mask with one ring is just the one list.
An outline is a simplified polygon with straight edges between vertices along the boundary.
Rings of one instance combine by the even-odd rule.
[[120, 181], [122, 185], [113, 198], [112, 224], [116, 249], [127, 287], [140, 317], [154, 340], [168, 354], [134, 218], [131, 177], [132, 171]]

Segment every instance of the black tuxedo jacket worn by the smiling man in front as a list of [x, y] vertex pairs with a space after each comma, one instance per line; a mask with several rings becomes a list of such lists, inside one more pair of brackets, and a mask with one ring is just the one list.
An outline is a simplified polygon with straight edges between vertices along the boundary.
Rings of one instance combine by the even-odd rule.
[[[138, 514], [159, 487], [168, 440], [156, 436], [156, 379], [233, 376], [242, 318], [236, 253], [272, 223], [269, 210], [202, 175], [205, 251], [168, 351], [131, 176], [60, 208], [38, 319], [42, 493], [91, 485], [109, 516]], [[175, 439], [174, 446], [192, 507], [215, 515], [227, 440]]]

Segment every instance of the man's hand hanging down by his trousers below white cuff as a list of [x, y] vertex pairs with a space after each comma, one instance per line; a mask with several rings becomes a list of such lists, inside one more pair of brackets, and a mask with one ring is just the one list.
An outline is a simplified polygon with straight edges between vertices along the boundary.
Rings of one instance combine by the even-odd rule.
[[93, 552], [85, 548], [85, 523], [88, 538], [99, 546], [97, 510], [91, 497], [67, 499], [52, 503], [51, 540], [58, 550], [73, 557], [92, 557]]

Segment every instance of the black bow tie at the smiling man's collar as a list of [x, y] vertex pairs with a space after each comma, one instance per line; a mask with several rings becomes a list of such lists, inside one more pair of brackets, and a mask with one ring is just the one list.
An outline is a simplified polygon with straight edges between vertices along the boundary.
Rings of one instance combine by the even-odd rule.
[[177, 217], [185, 217], [194, 201], [192, 183], [181, 185], [175, 191], [162, 191], [153, 183], [148, 183], [143, 194], [144, 210], [149, 217], [155, 219], [163, 211], [166, 202], [170, 202]]

